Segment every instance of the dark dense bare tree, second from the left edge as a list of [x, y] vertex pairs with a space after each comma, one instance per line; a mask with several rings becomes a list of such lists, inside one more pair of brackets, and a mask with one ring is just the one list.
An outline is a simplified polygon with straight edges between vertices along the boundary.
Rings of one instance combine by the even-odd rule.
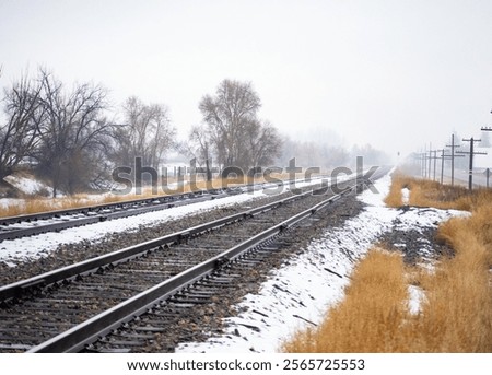
[[99, 175], [114, 127], [104, 112], [107, 91], [99, 85], [78, 84], [67, 94], [60, 81], [39, 69], [38, 102], [45, 114], [38, 126], [39, 144], [33, 156], [38, 172], [51, 181], [54, 197], [86, 188]]

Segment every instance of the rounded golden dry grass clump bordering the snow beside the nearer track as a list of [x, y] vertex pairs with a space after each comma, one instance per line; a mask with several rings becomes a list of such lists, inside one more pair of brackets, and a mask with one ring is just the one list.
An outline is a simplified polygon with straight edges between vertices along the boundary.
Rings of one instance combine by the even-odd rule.
[[399, 254], [374, 249], [355, 268], [345, 298], [316, 329], [283, 344], [285, 352], [391, 352], [407, 313], [407, 285]]

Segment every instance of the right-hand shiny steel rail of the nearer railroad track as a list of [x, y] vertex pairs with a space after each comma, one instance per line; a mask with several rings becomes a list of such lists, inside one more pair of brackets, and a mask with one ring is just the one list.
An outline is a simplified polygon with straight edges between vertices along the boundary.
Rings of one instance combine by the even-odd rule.
[[133, 297], [103, 312], [89, 320], [72, 327], [71, 329], [32, 348], [28, 353], [61, 353], [77, 352], [84, 345], [94, 342], [102, 336], [109, 333], [122, 323], [132, 320], [134, 317], [145, 313], [150, 307], [166, 300], [171, 295], [177, 293], [184, 288], [201, 280], [212, 272], [221, 268], [224, 263], [233, 261], [250, 249], [256, 248], [266, 241], [276, 237], [289, 227], [297, 224], [306, 218], [315, 214], [324, 207], [330, 204], [335, 200], [340, 199], [354, 190], [358, 185], [348, 187], [339, 195], [332, 196], [320, 203], [307, 209], [269, 230], [266, 230], [256, 236], [206, 260], [190, 269], [167, 279], [166, 281], [141, 292]]

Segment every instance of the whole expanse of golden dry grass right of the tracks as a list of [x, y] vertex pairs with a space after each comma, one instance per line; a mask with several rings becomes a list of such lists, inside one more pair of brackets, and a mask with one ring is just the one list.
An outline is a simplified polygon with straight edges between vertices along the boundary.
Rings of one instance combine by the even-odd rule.
[[[405, 186], [411, 189], [411, 204], [467, 207], [472, 212], [438, 228], [438, 239], [452, 246], [455, 255], [441, 259], [429, 272], [405, 269], [399, 256], [371, 251], [356, 267], [345, 298], [327, 314], [324, 324], [316, 330], [297, 332], [282, 350], [492, 352], [491, 191], [470, 195], [461, 188], [395, 176], [387, 202], [398, 202]], [[401, 196], [399, 199], [397, 207]], [[408, 283], [425, 293], [418, 315], [405, 308]]]

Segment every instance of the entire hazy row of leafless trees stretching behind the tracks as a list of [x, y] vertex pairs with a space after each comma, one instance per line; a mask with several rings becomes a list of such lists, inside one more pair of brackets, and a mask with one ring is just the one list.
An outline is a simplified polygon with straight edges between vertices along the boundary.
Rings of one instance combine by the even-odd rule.
[[52, 187], [54, 196], [105, 188], [114, 168], [134, 171], [137, 157], [140, 165], [160, 171], [171, 151], [194, 159], [208, 178], [212, 163], [246, 173], [286, 166], [292, 157], [300, 166], [321, 168], [345, 165], [355, 151], [382, 157], [371, 147], [347, 151], [283, 137], [259, 117], [261, 101], [251, 84], [234, 80], [222, 81], [214, 94], [201, 98], [202, 121], [184, 142], [176, 141], [165, 104], [131, 96], [115, 109], [106, 87], [82, 83], [69, 89], [44, 68], [4, 89], [2, 106], [0, 180], [28, 169]]

